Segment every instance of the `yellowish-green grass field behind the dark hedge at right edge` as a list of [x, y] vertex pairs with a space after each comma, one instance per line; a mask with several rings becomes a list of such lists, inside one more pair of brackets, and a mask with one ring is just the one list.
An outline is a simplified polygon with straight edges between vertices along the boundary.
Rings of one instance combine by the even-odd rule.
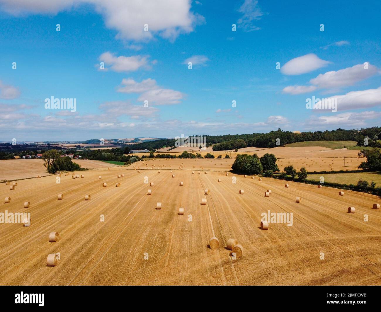
[[354, 173], [324, 173], [309, 174], [309, 180], [320, 181], [320, 177], [324, 177], [325, 182], [341, 183], [341, 184], [357, 184], [359, 179], [376, 182], [376, 186], [381, 186], [381, 172], [354, 172]]

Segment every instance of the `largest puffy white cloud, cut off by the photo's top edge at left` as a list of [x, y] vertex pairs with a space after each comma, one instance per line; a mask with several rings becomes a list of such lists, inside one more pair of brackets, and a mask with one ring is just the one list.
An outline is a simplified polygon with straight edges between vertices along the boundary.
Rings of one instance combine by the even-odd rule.
[[[26, 13], [57, 14], [74, 6], [92, 4], [110, 29], [117, 30], [117, 38], [149, 40], [155, 34], [174, 40], [181, 33], [189, 33], [203, 16], [190, 11], [190, 0], [0, 0], [3, 11], [13, 15]], [[144, 31], [148, 24], [149, 31]]]

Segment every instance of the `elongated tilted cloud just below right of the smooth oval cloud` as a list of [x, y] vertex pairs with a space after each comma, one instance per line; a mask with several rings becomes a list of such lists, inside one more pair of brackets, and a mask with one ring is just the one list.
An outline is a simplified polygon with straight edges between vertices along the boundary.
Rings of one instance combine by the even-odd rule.
[[377, 72], [378, 69], [374, 65], [368, 64], [368, 69], [364, 69], [363, 64], [357, 64], [338, 71], [333, 70], [325, 74], [320, 74], [316, 78], [311, 79], [310, 83], [317, 85], [319, 88], [352, 86], [360, 80], [377, 74]]

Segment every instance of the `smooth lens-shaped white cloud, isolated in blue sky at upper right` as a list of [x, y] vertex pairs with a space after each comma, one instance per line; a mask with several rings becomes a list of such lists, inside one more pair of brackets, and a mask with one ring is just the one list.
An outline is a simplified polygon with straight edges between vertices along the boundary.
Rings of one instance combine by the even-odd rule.
[[316, 54], [310, 53], [291, 59], [282, 66], [280, 71], [285, 75], [301, 75], [327, 66], [330, 63], [329, 61], [320, 59]]

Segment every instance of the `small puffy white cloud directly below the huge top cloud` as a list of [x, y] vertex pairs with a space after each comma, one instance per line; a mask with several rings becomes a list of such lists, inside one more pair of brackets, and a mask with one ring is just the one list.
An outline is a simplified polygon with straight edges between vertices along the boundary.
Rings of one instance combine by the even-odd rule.
[[[149, 56], [114, 56], [110, 52], [102, 53], [99, 56], [99, 61], [104, 62], [105, 65], [110, 66], [110, 69], [115, 72], [131, 72], [139, 68], [150, 69], [148, 64]], [[105, 67], [107, 68], [107, 67]]]

